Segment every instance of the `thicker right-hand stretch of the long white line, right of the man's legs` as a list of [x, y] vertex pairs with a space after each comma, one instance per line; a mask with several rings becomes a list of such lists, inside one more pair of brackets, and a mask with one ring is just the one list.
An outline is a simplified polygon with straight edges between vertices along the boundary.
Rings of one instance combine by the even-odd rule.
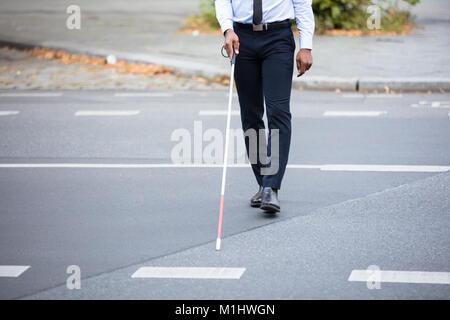
[[446, 172], [450, 166], [327, 164], [322, 171], [372, 171], [372, 172]]

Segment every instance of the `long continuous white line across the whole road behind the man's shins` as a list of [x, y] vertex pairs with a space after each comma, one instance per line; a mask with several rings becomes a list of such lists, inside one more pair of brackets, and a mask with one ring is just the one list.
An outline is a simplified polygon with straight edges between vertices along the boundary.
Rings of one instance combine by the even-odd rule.
[[[228, 165], [229, 168], [248, 168], [248, 163]], [[163, 169], [163, 168], [222, 168], [222, 164], [176, 164], [176, 163], [0, 163], [7, 168], [72, 168], [72, 169]], [[289, 164], [290, 169], [319, 169], [321, 171], [366, 171], [366, 172], [446, 172], [450, 166], [418, 165], [363, 165], [363, 164]]]

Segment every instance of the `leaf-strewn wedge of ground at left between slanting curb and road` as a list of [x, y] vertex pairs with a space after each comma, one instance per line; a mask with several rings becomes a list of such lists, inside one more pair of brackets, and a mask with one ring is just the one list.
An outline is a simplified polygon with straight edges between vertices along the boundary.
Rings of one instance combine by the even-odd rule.
[[[0, 88], [18, 90], [228, 90], [226, 84], [183, 75], [133, 74], [108, 66], [64, 64], [21, 50], [0, 50]], [[143, 71], [142, 68], [139, 71]], [[144, 70], [145, 71], [145, 70]]]

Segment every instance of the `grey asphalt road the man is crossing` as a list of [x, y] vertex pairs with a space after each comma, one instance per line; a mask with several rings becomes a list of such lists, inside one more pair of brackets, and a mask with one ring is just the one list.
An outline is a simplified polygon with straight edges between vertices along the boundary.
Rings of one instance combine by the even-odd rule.
[[[251, 170], [230, 168], [216, 252], [220, 165], [173, 165], [171, 135], [223, 131], [226, 92], [120, 94], [0, 92], [0, 266], [30, 266], [0, 277], [0, 298], [450, 298], [348, 281], [370, 265], [450, 272], [449, 95], [293, 92], [282, 212], [250, 208]], [[245, 272], [131, 278], [144, 266]]]

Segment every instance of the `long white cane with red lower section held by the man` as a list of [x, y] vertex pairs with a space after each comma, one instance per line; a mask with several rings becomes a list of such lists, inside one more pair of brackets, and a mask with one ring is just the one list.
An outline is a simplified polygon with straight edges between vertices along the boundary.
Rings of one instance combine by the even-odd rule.
[[228, 143], [229, 143], [228, 140], [229, 140], [230, 120], [231, 120], [231, 102], [233, 100], [233, 80], [234, 80], [235, 62], [236, 62], [236, 54], [233, 52], [233, 58], [231, 59], [230, 91], [228, 96], [227, 128], [225, 131], [225, 152], [223, 156], [222, 188], [220, 191], [219, 224], [217, 227], [216, 250], [220, 250], [222, 238], [223, 201], [225, 196], [225, 181], [227, 178], [227, 160], [228, 160]]

